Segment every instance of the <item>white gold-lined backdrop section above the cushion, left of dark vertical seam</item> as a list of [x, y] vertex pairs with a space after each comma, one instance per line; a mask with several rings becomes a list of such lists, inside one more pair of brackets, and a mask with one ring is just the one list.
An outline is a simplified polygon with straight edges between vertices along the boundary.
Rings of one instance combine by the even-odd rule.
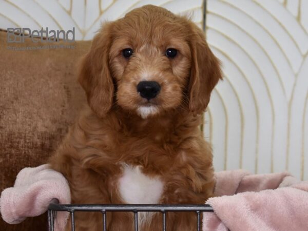
[[71, 30], [76, 40], [91, 40], [105, 21], [133, 8], [153, 4], [178, 14], [191, 14], [200, 27], [203, 1], [190, 0], [0, 0], [0, 28], [28, 27]]

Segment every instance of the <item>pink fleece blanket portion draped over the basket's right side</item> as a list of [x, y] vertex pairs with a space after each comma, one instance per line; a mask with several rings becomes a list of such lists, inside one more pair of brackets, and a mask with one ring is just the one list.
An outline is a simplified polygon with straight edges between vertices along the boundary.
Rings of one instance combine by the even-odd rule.
[[203, 230], [308, 230], [308, 181], [286, 172], [249, 175], [243, 170], [216, 173], [210, 198], [215, 213], [204, 213]]

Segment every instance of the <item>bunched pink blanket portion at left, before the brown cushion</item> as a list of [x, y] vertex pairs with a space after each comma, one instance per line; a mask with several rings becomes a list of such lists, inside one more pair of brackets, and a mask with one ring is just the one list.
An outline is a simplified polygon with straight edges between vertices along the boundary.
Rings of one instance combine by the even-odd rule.
[[[70, 190], [64, 176], [48, 164], [24, 168], [18, 173], [14, 187], [2, 191], [1, 215], [7, 223], [17, 224], [27, 217], [44, 214], [54, 199], [61, 204], [70, 203]], [[68, 215], [66, 212], [57, 213], [55, 230], [64, 230]]]

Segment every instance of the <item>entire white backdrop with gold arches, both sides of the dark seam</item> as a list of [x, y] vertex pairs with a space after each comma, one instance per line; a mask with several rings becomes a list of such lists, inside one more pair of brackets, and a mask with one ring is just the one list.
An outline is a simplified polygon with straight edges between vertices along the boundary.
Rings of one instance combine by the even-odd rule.
[[[76, 40], [90, 40], [101, 22], [145, 4], [202, 28], [202, 0], [0, 0], [0, 28], [75, 27]], [[225, 75], [205, 114], [215, 169], [308, 180], [308, 0], [208, 0], [206, 13]]]

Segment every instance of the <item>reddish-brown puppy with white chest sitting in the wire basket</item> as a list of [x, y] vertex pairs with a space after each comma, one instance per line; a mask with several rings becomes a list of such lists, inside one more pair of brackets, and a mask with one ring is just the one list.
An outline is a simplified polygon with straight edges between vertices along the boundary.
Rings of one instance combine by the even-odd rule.
[[[185, 17], [148, 5], [106, 23], [81, 65], [89, 107], [50, 160], [72, 203], [203, 204], [215, 181], [199, 125], [219, 79], [203, 32]], [[141, 214], [140, 230], [161, 230], [161, 216]], [[108, 214], [108, 230], [133, 230], [132, 218]], [[167, 214], [167, 230], [196, 223], [194, 213]], [[75, 224], [102, 230], [102, 215], [77, 213]]]

